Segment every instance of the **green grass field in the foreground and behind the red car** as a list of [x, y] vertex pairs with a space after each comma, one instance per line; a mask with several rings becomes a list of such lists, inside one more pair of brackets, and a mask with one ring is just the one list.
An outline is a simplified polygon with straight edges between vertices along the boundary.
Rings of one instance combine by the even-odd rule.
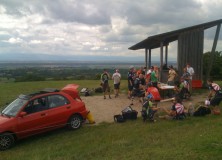
[[[77, 83], [95, 88], [98, 81], [0, 83], [1, 106], [21, 93], [62, 88]], [[126, 90], [126, 82], [123, 82]], [[0, 160], [220, 160], [222, 115], [188, 117], [183, 121], [142, 119], [122, 124], [83, 125], [77, 131], [59, 129], [19, 141], [0, 152]]]

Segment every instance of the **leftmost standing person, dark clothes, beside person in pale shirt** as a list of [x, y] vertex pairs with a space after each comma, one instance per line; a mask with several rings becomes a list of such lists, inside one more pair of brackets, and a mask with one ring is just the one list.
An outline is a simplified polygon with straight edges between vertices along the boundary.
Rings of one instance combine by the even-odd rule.
[[106, 69], [104, 69], [104, 70], [103, 70], [103, 73], [101, 74], [101, 85], [102, 85], [102, 88], [103, 88], [104, 99], [106, 99], [106, 93], [107, 93], [107, 92], [108, 92], [108, 94], [109, 94], [109, 98], [111, 99], [111, 96], [110, 96], [110, 86], [109, 86], [109, 78], [110, 78], [109, 73], [107, 72]]

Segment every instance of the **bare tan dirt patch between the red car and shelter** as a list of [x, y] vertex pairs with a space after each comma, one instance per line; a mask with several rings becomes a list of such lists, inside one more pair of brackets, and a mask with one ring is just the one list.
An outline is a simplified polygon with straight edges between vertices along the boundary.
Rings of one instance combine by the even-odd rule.
[[[188, 106], [189, 103], [197, 104], [198, 102], [204, 102], [207, 97], [206, 94], [199, 94], [192, 96], [190, 100], [184, 100], [183, 104]], [[96, 124], [101, 122], [113, 122], [113, 116], [116, 114], [121, 114], [121, 111], [129, 106], [132, 101], [127, 98], [125, 94], [121, 94], [119, 97], [112, 99], [106, 98], [103, 99], [103, 96], [88, 96], [88, 97], [81, 97], [83, 102], [86, 104], [86, 108], [90, 110], [92, 113]], [[158, 107], [171, 107], [171, 102], [162, 102], [157, 104]], [[139, 102], [139, 99], [135, 98], [133, 100], [132, 108], [138, 111], [138, 116], [141, 116], [141, 108], [142, 104]], [[159, 112], [162, 112], [161, 109]]]

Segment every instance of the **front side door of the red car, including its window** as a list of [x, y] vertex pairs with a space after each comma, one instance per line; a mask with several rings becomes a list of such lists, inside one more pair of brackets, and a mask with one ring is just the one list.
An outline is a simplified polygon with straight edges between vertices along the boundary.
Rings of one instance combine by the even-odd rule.
[[22, 110], [24, 116], [18, 117], [18, 135], [26, 137], [47, 130], [47, 97], [31, 100]]

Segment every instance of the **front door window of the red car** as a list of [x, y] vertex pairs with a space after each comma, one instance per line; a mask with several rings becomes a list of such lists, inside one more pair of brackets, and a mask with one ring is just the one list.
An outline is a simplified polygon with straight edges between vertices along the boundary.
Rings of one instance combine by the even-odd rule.
[[41, 97], [30, 101], [28, 105], [25, 107], [24, 111], [30, 114], [30, 113], [40, 112], [46, 109], [48, 109], [47, 98]]

